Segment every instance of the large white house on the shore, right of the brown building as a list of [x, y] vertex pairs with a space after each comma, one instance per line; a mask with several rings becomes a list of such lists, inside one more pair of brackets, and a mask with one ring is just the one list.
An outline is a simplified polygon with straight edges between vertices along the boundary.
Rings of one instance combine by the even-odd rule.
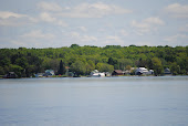
[[135, 75], [152, 75], [154, 74], [154, 70], [147, 70], [146, 67], [138, 67], [135, 71]]

